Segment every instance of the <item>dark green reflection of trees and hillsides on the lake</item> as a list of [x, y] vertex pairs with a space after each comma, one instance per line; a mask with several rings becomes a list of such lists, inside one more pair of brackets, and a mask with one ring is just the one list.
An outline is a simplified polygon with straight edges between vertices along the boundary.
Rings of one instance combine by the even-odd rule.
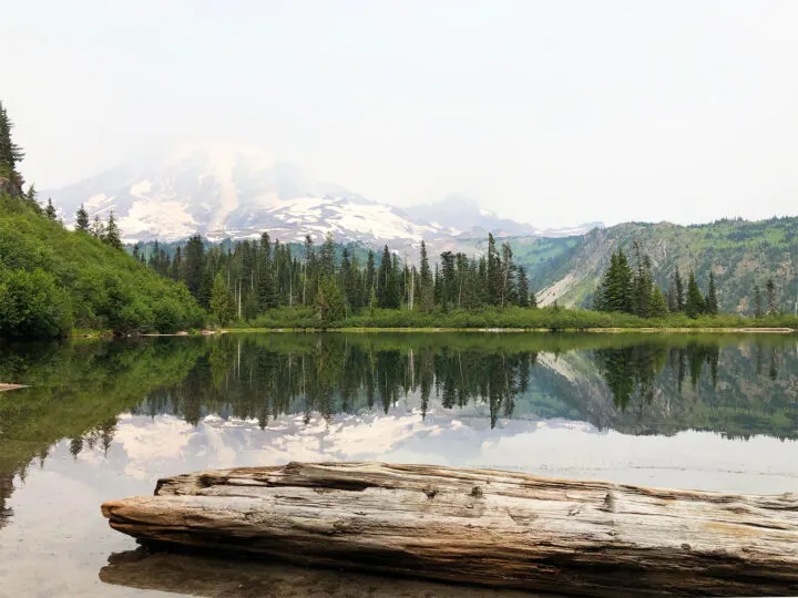
[[391, 413], [399, 403], [501, 420], [583, 421], [626, 434], [798, 436], [795, 337], [228, 334], [0, 349], [0, 527], [14, 476], [69, 440], [114, 442], [120, 414], [197, 425]]

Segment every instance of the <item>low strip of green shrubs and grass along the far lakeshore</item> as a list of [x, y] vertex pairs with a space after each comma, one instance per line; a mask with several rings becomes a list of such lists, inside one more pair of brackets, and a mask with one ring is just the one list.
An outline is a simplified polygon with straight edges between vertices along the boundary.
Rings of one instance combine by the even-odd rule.
[[283, 308], [248, 322], [234, 322], [226, 328], [239, 332], [263, 330], [790, 332], [798, 329], [798, 318], [767, 316], [755, 319], [724, 313], [692, 319], [683, 313], [674, 313], [664, 318], [644, 319], [627, 313], [563, 308], [452, 310], [431, 313], [375, 309], [342, 321], [321, 322], [311, 308]]

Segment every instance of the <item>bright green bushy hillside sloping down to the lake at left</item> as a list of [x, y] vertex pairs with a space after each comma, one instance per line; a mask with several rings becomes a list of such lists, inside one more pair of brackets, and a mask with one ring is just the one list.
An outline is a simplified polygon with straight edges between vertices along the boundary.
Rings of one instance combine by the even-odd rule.
[[[0, 326], [0, 337], [19, 336], [20, 330], [25, 336], [60, 336], [72, 324], [174, 332], [201, 327], [204, 319], [182, 285], [89, 235], [65, 230], [17, 197], [0, 196], [0, 270], [13, 280], [16, 297], [28, 297], [30, 283], [41, 289], [24, 300], [28, 323], [10, 317]], [[37, 307], [37, 313], [30, 306], [41, 310]]]

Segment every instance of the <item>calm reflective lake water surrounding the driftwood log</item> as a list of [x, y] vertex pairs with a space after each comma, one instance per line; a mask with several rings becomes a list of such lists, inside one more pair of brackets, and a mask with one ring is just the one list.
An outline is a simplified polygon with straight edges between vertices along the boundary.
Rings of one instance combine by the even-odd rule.
[[226, 334], [0, 347], [0, 596], [510, 596], [155, 555], [100, 515], [158, 477], [437, 463], [798, 492], [798, 337]]

